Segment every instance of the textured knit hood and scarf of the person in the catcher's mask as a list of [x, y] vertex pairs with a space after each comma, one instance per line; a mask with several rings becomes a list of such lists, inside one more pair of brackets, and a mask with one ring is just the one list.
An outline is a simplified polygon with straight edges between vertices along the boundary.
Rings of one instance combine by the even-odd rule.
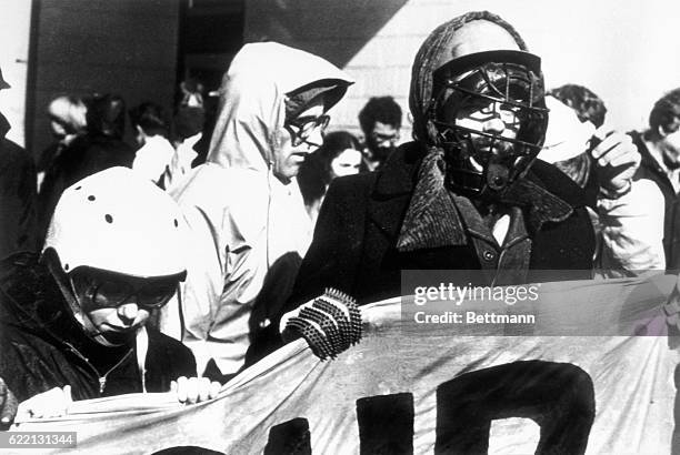
[[[397, 249], [401, 252], [434, 249], [464, 243], [466, 234], [452, 194], [444, 185], [444, 151], [436, 142], [436, 129], [429, 122], [432, 108], [433, 73], [454, 57], [482, 51], [508, 50], [466, 43], [464, 52], [458, 49], [458, 31], [468, 22], [484, 20], [504, 29], [520, 50], [527, 44], [508, 22], [488, 11], [468, 12], [434, 29], [424, 40], [413, 61], [409, 105], [413, 117], [413, 136], [424, 144], [423, 160], [414, 182], [409, 208], [401, 224]], [[559, 222], [571, 214], [571, 208], [559, 198], [548, 193], [531, 181], [521, 179], [504, 192], [507, 205], [523, 206], [529, 213], [531, 231], [537, 231], [546, 221]]]

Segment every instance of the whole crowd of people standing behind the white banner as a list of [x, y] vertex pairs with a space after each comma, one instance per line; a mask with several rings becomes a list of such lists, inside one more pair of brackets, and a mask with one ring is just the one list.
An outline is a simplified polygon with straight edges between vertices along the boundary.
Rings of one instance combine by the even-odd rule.
[[137, 148], [111, 94], [56, 99], [37, 169], [3, 139], [0, 407], [60, 415], [173, 381], [180, 401], [207, 400], [283, 343], [300, 305], [328, 287], [360, 305], [398, 296], [402, 270], [509, 285], [679, 266], [680, 89], [648, 130], [617, 131], [587, 88], [547, 91], [540, 58], [486, 11], [421, 46], [412, 141], [391, 97], [359, 112], [362, 141], [324, 134], [352, 83], [251, 43], [204, 152], [186, 89], [173, 127], [153, 103], [130, 110]]

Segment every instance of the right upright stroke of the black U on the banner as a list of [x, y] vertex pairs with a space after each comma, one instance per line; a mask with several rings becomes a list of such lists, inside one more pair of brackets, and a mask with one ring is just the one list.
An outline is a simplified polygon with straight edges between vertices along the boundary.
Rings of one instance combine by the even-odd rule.
[[361, 454], [413, 454], [413, 395], [357, 400]]

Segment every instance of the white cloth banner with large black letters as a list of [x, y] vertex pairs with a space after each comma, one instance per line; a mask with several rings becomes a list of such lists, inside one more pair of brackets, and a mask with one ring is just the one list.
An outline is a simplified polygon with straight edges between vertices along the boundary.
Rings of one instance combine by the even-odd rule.
[[[211, 402], [181, 406], [166, 394], [94, 400], [77, 403], [64, 418], [13, 431], [74, 431], [77, 447], [59, 452], [83, 454], [186, 446], [431, 454], [487, 444], [490, 453], [526, 454], [537, 449], [540, 424], [546, 451], [587, 444], [588, 454], [670, 454], [680, 338], [668, 335], [662, 305], [674, 283], [660, 276], [542, 284], [532, 336], [499, 335], [491, 323], [487, 336], [463, 336], [462, 325], [417, 323], [410, 313], [402, 317], [399, 300], [381, 302], [363, 307], [370, 323], [363, 340], [334, 361], [320, 362], [298, 341]], [[570, 324], [601, 335], [550, 336]]]

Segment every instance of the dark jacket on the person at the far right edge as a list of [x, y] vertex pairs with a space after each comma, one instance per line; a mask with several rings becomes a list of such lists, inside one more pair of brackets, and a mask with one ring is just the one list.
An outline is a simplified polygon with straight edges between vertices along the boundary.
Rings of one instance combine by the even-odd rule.
[[633, 143], [638, 146], [638, 152], [641, 155], [640, 168], [636, 172], [634, 180], [649, 179], [659, 186], [663, 194], [664, 216], [663, 216], [663, 251], [666, 252], [666, 269], [680, 269], [680, 195], [676, 194], [666, 171], [651, 155], [642, 134], [632, 131], [629, 132], [633, 139]]

